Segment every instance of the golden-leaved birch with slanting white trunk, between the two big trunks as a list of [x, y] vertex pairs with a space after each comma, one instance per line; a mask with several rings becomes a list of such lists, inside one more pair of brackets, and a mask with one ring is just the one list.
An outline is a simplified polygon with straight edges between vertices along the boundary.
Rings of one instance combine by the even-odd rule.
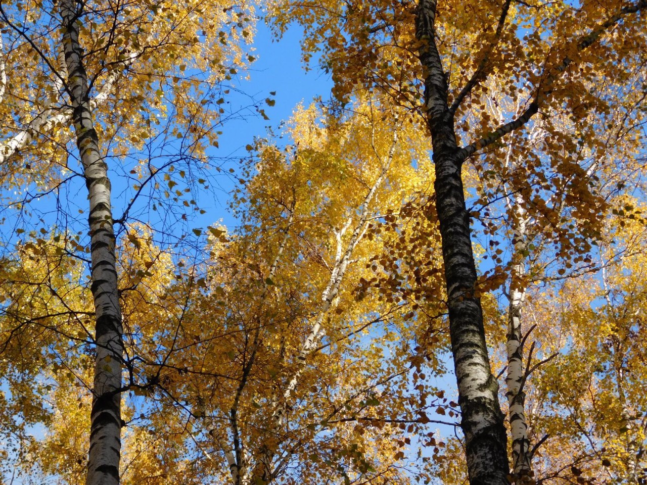
[[[373, 277], [369, 257], [382, 257], [374, 225], [397, 219], [404, 188], [428, 184], [412, 177], [411, 153], [399, 148], [418, 132], [378, 137], [393, 127], [383, 117], [370, 105], [347, 119], [298, 109], [293, 144], [259, 142], [243, 173], [241, 229], [208, 232], [207, 296], [195, 296], [177, 343], [195, 347], [194, 357], [173, 356], [170, 369], [187, 376], [166, 372], [159, 392], [188, 401], [190, 439], [220, 480], [406, 480], [404, 440], [442, 402], [424, 378], [407, 389], [422, 338], [402, 327], [413, 302], [377, 304], [377, 288], [355, 292]], [[415, 151], [423, 153], [424, 140]], [[204, 314], [209, 328], [191, 316]], [[374, 333], [384, 336], [367, 345]], [[413, 361], [426, 368], [422, 356]]]

